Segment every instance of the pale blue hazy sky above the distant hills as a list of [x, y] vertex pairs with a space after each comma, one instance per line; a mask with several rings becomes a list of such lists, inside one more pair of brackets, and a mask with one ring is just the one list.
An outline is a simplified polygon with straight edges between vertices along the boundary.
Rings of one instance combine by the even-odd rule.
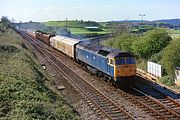
[[0, 17], [17, 21], [180, 18], [180, 0], [0, 0]]

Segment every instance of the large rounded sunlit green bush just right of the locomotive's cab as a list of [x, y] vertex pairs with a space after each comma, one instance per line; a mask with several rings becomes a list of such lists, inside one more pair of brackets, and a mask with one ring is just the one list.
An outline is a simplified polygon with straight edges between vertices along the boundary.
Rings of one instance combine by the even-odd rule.
[[164, 29], [152, 30], [134, 41], [132, 49], [140, 57], [148, 59], [165, 48], [172, 38]]

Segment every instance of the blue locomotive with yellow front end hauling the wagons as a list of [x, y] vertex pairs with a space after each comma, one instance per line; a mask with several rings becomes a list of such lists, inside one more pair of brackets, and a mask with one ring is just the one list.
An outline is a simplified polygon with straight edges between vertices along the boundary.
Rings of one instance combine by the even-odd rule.
[[76, 60], [100, 77], [115, 82], [136, 75], [135, 57], [127, 51], [80, 42], [76, 46]]

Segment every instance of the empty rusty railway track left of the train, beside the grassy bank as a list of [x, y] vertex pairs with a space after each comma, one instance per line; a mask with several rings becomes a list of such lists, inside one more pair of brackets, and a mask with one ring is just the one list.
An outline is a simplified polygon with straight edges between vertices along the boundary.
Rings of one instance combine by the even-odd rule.
[[58, 69], [68, 80], [81, 92], [81, 95], [88, 102], [88, 104], [99, 114], [110, 120], [120, 119], [135, 119], [126, 110], [117, 105], [114, 101], [104, 95], [102, 92], [93, 87], [85, 79], [74, 73], [68, 66], [66, 66], [60, 59], [52, 55], [42, 46], [34, 43], [33, 40], [25, 33], [22, 34], [45, 59]]

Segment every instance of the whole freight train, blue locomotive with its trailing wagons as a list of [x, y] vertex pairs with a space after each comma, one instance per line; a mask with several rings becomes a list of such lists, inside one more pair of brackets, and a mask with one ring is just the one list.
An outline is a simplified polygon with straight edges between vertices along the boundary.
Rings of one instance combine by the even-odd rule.
[[89, 71], [115, 84], [129, 81], [136, 75], [135, 57], [130, 52], [70, 37], [53, 36], [39, 30], [27, 32], [36, 40], [59, 50]]

